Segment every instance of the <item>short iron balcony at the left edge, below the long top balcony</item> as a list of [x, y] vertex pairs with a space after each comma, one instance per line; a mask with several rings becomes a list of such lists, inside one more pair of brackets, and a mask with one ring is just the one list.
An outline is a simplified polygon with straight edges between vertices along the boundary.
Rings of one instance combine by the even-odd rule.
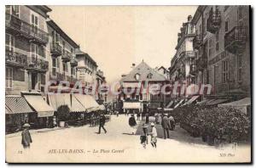
[[21, 67], [21, 68], [25, 67], [26, 55], [22, 53], [5, 50], [5, 63], [12, 66]]

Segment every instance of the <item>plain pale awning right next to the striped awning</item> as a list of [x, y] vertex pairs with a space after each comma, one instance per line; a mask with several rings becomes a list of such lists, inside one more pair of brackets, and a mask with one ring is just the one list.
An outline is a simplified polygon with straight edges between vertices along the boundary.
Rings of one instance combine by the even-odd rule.
[[53, 116], [55, 109], [50, 107], [41, 95], [24, 95], [26, 102], [30, 104], [32, 109], [38, 112], [38, 117]]

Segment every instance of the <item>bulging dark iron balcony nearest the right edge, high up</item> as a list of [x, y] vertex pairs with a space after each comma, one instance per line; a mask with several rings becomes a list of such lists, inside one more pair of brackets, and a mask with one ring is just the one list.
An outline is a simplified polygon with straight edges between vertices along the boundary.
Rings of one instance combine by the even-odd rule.
[[224, 48], [230, 53], [242, 53], [247, 41], [246, 28], [236, 26], [224, 36]]

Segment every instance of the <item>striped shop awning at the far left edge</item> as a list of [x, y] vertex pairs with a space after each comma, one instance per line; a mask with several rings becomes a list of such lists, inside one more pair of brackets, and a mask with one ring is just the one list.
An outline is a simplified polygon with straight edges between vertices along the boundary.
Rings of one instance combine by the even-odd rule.
[[6, 114], [20, 114], [34, 112], [27, 104], [26, 99], [20, 96], [5, 97], [5, 113]]

